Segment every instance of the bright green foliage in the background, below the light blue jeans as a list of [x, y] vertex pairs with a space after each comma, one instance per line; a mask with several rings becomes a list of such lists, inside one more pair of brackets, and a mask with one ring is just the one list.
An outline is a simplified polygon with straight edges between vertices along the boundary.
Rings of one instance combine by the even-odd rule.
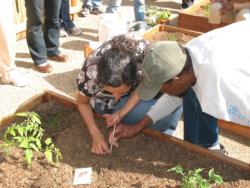
[[169, 10], [159, 9], [155, 6], [146, 9], [146, 22], [149, 26], [157, 25], [161, 20], [169, 20], [171, 13]]

